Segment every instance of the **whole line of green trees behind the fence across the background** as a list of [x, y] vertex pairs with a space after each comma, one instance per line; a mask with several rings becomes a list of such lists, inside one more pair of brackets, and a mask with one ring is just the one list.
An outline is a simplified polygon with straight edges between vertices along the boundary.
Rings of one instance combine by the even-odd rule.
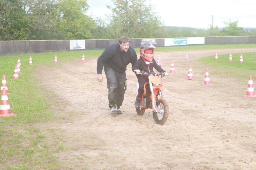
[[[208, 29], [164, 26], [148, 0], [112, 0], [107, 19], [86, 15], [86, 0], [0, 0], [0, 40], [255, 36], [238, 21]], [[145, 5], [148, 4], [148, 5]], [[171, 16], [170, 16], [171, 19]]]

